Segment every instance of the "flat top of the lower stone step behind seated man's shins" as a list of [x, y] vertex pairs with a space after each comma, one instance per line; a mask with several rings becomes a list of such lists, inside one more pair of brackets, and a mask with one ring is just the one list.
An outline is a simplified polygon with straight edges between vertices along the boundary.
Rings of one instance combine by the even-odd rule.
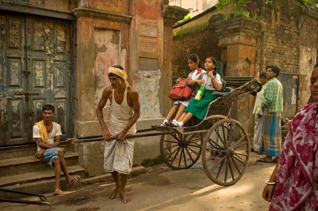
[[[79, 175], [81, 178], [84, 178], [86, 170], [85, 170], [85, 168], [82, 168], [78, 165], [75, 165], [75, 166], [68, 166], [67, 172], [70, 175], [76, 174], [76, 175]], [[62, 175], [64, 175], [63, 172], [62, 172]], [[50, 180], [50, 179], [54, 179], [54, 178], [55, 178], [54, 169], [52, 168], [50, 170], [45, 170], [45, 171], [38, 171], [38, 172], [31, 172], [31, 173], [17, 174], [17, 175], [1, 177], [0, 187], [13, 186], [13, 185], [17, 185], [17, 184], [19, 184], [19, 186], [20, 186], [21, 184], [24, 184], [24, 183], [38, 182], [41, 180]], [[65, 180], [63, 178], [64, 177], [61, 177], [61, 181]], [[7, 188], [7, 187], [3, 187], [3, 188]]]

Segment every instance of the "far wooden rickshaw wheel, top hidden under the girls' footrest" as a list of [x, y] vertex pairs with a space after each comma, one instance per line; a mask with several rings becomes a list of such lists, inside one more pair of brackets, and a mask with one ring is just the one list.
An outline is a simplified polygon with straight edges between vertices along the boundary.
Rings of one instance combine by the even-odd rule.
[[172, 169], [188, 169], [200, 158], [202, 143], [204, 140], [202, 133], [171, 134], [174, 138], [166, 140], [166, 135], [161, 135], [159, 147], [163, 161]]

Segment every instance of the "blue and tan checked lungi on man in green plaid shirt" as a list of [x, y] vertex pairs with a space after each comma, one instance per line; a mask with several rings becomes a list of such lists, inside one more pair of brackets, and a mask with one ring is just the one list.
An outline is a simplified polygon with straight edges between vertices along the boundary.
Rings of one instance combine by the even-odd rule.
[[280, 112], [263, 113], [262, 118], [263, 143], [259, 152], [264, 150], [267, 156], [280, 157], [281, 153], [281, 126]]

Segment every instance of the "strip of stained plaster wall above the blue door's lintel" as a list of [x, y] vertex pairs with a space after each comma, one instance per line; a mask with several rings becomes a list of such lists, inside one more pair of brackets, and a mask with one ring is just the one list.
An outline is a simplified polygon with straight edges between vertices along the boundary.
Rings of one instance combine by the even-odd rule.
[[77, 0], [0, 0], [0, 3], [9, 3], [13, 5], [28, 6], [66, 13], [70, 13], [77, 7]]

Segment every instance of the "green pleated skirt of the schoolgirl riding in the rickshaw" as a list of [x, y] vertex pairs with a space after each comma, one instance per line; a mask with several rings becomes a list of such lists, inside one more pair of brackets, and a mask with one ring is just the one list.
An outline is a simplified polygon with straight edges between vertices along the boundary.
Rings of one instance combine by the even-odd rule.
[[206, 112], [208, 111], [209, 104], [215, 100], [216, 95], [212, 95], [212, 90], [204, 90], [203, 96], [199, 101], [194, 99], [190, 102], [184, 112], [190, 112], [199, 119], [204, 119]]

